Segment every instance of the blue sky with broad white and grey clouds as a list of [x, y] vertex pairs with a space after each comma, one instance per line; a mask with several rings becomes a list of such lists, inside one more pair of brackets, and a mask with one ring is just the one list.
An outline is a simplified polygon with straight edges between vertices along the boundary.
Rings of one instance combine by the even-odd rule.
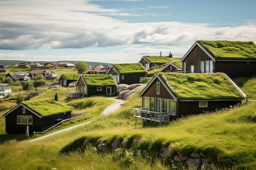
[[137, 63], [256, 42], [255, 0], [0, 0], [0, 60]]

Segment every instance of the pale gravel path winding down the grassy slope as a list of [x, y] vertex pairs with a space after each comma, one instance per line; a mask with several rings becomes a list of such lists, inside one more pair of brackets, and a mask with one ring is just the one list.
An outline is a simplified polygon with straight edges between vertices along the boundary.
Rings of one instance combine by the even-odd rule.
[[[113, 113], [115, 111], [117, 111], [119, 108], [121, 108], [121, 105], [124, 104], [124, 100], [121, 100], [121, 99], [118, 99], [117, 97], [108, 97], [107, 99], [112, 99], [112, 100], [115, 100], [115, 103], [111, 104], [110, 106], [108, 106], [105, 110], [103, 110], [103, 112], [101, 113], [101, 116], [102, 115], [108, 115], [110, 113]], [[88, 121], [88, 122], [85, 122], [85, 123], [82, 123], [82, 124], [78, 124], [78, 125], [74, 125], [74, 126], [71, 126], [69, 128], [65, 128], [65, 129], [62, 129], [62, 130], [58, 130], [56, 132], [52, 132], [48, 135], [45, 135], [45, 136], [42, 136], [42, 137], [38, 137], [36, 139], [31, 139], [29, 141], [26, 141], [27, 143], [30, 143], [30, 142], [34, 142], [34, 141], [38, 141], [38, 140], [41, 140], [41, 139], [45, 139], [47, 137], [50, 137], [50, 136], [53, 136], [53, 135], [56, 135], [58, 133], [61, 133], [61, 132], [65, 132], [65, 131], [68, 131], [68, 130], [72, 130], [74, 128], [77, 128], [79, 126], [84, 126], [86, 124], [90, 124], [92, 121]]]

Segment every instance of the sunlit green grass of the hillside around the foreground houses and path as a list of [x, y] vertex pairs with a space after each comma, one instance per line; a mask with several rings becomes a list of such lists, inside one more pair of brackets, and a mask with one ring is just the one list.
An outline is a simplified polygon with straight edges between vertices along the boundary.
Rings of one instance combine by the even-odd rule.
[[[249, 93], [249, 99], [255, 100], [255, 77], [237, 79], [244, 93]], [[189, 155], [191, 152], [204, 152], [209, 161], [218, 165], [213, 170], [253, 170], [256, 169], [256, 103], [221, 110], [217, 113], [205, 113], [185, 117], [164, 126], [146, 126], [140, 119], [133, 117], [132, 108], [141, 106], [139, 92], [128, 99], [115, 113], [100, 116], [101, 112], [113, 101], [103, 97], [67, 100], [65, 91], [74, 91], [74, 88], [38, 89], [45, 91], [34, 97], [54, 98], [58, 93], [59, 101], [76, 108], [76, 113], [90, 113], [88, 117], [64, 124], [61, 128], [92, 120], [90, 124], [74, 130], [62, 132], [40, 141], [29, 142], [35, 137], [20, 135], [6, 135], [4, 133], [4, 118], [0, 117], [0, 169], [1, 170], [171, 170], [178, 169], [171, 165], [171, 159], [166, 159], [154, 152], [155, 155], [145, 157], [146, 151], [118, 150], [115, 153], [101, 153], [88, 147], [84, 152], [74, 151], [61, 154], [62, 148], [76, 139], [89, 137], [92, 143], [97, 144], [100, 139], [127, 137], [129, 141], [145, 137], [148, 143], [144, 148], [154, 150], [155, 144], [168, 146], [178, 144], [173, 152], [182, 152]], [[0, 116], [9, 108], [16, 105], [15, 98], [1, 100]], [[52, 132], [53, 132], [52, 131]], [[36, 137], [39, 137], [37, 135]], [[21, 141], [20, 141], [21, 140]], [[152, 142], [150, 142], [152, 141]], [[142, 146], [141, 146], [142, 147]], [[158, 159], [154, 159], [154, 157]], [[182, 169], [182, 168], [179, 168]]]

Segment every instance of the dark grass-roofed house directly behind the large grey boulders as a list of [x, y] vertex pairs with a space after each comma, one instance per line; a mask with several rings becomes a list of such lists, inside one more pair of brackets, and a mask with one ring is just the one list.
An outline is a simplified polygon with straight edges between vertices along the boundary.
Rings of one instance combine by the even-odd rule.
[[137, 84], [140, 77], [147, 77], [148, 71], [141, 63], [113, 64], [108, 75], [113, 75], [117, 84]]

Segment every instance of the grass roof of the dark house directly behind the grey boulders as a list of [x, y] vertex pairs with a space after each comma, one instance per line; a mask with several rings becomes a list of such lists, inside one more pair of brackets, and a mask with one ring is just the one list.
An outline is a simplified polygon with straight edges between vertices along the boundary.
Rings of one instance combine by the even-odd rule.
[[147, 73], [141, 63], [113, 64], [120, 74]]

